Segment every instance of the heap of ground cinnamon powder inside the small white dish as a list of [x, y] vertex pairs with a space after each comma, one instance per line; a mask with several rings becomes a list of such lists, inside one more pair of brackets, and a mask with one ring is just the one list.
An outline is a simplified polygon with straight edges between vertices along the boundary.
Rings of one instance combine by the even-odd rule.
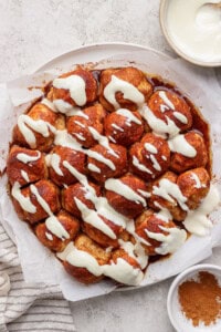
[[210, 325], [221, 318], [221, 287], [213, 274], [199, 272], [197, 279], [179, 286], [178, 294], [182, 312], [194, 326], [200, 322]]

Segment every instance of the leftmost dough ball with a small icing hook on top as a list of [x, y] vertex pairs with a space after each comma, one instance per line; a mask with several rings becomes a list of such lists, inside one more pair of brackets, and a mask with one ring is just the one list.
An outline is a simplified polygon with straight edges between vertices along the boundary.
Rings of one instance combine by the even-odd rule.
[[20, 186], [48, 177], [44, 155], [35, 149], [13, 145], [7, 159], [7, 175], [10, 184]]

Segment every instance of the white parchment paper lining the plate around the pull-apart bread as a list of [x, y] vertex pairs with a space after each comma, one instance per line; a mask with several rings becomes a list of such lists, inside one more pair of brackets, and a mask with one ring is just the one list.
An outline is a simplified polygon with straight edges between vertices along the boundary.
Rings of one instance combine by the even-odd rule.
[[[201, 71], [182, 60], [168, 59], [164, 54], [152, 51], [133, 52], [131, 54], [122, 54], [101, 60], [93, 68], [102, 69], [124, 65], [136, 65], [145, 72], [159, 74], [164, 79], [175, 82], [200, 107], [203, 116], [211, 125], [213, 183], [215, 183], [221, 195], [221, 87], [213, 72], [211, 70]], [[40, 89], [34, 89], [33, 86], [42, 86], [45, 82], [53, 80], [61, 72], [73, 69], [73, 66], [35, 73], [9, 82], [7, 86], [0, 85], [0, 170], [6, 168], [11, 132], [18, 116], [27, 108], [29, 103], [42, 94]], [[33, 89], [30, 90], [30, 86]], [[7, 194], [6, 186], [7, 177], [3, 175], [0, 178], [0, 218], [18, 246], [27, 281], [46, 284], [60, 283], [64, 297], [71, 301], [97, 297], [117, 288], [117, 284], [110, 280], [84, 286], [70, 277], [62, 264], [54, 258], [54, 255], [39, 242], [29, 226], [18, 218]], [[140, 287], [175, 276], [187, 267], [211, 256], [212, 248], [221, 246], [220, 206], [210, 215], [210, 219], [214, 224], [211, 234], [206, 237], [191, 236], [170, 258], [151, 263]], [[125, 287], [124, 289], [131, 288]]]

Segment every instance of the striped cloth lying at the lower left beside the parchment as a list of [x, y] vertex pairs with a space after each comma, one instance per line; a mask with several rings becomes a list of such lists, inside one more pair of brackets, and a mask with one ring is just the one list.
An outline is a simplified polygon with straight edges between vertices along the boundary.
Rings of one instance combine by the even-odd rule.
[[11, 290], [0, 297], [0, 332], [76, 331], [69, 302], [59, 286], [27, 283], [17, 248], [0, 224], [0, 274], [7, 272]]

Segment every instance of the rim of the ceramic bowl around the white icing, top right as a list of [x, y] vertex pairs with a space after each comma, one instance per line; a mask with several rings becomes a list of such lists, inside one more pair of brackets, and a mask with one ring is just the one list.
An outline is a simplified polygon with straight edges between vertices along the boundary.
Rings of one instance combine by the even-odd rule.
[[[185, 60], [201, 65], [201, 66], [221, 66], [221, 61], [219, 62], [204, 62], [200, 61], [198, 59], [194, 59], [193, 56], [189, 56], [183, 52], [183, 50], [180, 50], [179, 45], [173, 41], [173, 39], [170, 37], [168, 24], [167, 24], [167, 13], [169, 8], [169, 1], [170, 0], [160, 0], [160, 8], [159, 8], [159, 20], [160, 20], [160, 27], [162, 30], [162, 33], [167, 40], [167, 42], [170, 44], [170, 46], [173, 49], [173, 51], [179, 54]], [[183, 0], [183, 1], [193, 1], [193, 0]], [[208, 2], [210, 2], [208, 0]], [[211, 1], [212, 2], [212, 1]]]

